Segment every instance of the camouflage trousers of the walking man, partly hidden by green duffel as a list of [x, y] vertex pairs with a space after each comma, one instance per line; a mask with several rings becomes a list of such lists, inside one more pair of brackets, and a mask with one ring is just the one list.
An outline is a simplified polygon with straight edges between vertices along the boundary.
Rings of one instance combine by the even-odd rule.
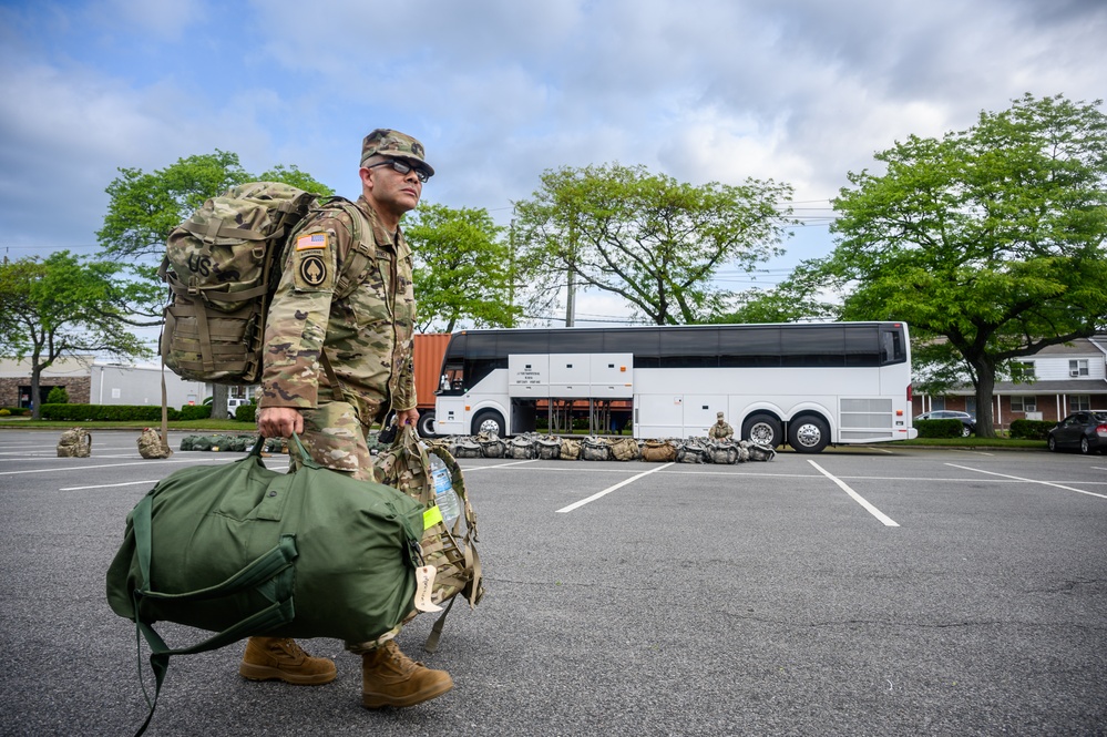
[[[304, 432], [300, 442], [316, 463], [362, 481], [378, 481], [372, 455], [366, 443], [368, 428], [349, 402], [322, 402], [317, 409], [300, 410]], [[288, 447], [289, 472], [303, 463], [296, 444]], [[372, 642], [346, 643], [346, 649], [360, 655], [376, 649], [400, 633], [397, 625]]]

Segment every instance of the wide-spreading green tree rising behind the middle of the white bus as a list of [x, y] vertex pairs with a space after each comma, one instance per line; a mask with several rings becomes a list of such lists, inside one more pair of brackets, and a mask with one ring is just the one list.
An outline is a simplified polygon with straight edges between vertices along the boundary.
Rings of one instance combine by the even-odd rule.
[[549, 171], [515, 204], [521, 259], [546, 265], [546, 284], [568, 273], [619, 295], [654, 324], [697, 323], [727, 296], [711, 286], [719, 268], [781, 253], [790, 198], [772, 181], [693, 186], [618, 164]]

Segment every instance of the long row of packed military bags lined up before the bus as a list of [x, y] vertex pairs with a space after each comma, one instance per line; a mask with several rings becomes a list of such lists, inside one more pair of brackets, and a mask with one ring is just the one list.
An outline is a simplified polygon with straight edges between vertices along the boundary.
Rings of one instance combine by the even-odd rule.
[[748, 440], [707, 438], [635, 440], [634, 438], [558, 438], [524, 433], [506, 440], [491, 433], [453, 436], [428, 441], [444, 447], [454, 458], [513, 458], [520, 460], [647, 461], [657, 463], [744, 463], [770, 461], [776, 451]]

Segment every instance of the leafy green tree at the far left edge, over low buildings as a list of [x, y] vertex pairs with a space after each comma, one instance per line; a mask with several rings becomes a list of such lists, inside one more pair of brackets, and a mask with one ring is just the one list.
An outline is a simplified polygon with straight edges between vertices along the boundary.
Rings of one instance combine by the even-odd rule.
[[115, 262], [79, 258], [68, 250], [44, 260], [0, 264], [0, 354], [30, 359], [32, 416], [39, 418], [42, 371], [65, 356], [110, 354], [147, 357], [150, 349], [126, 326], [156, 325], [148, 318], [161, 289], [120, 278]]

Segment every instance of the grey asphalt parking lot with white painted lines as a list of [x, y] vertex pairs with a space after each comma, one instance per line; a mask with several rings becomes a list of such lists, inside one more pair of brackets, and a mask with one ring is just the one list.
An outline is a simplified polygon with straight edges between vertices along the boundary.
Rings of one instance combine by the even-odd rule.
[[[57, 458], [58, 434], [0, 431], [0, 734], [129, 735], [135, 632], [104, 601], [124, 518], [172, 470], [242, 453], [143, 460], [116, 431]], [[434, 655], [430, 617], [400, 638], [452, 692], [369, 712], [337, 641], [303, 642], [338, 665], [319, 687], [246, 682], [234, 645], [174, 658], [147, 734], [1107, 733], [1107, 457], [462, 464], [486, 597]]]

